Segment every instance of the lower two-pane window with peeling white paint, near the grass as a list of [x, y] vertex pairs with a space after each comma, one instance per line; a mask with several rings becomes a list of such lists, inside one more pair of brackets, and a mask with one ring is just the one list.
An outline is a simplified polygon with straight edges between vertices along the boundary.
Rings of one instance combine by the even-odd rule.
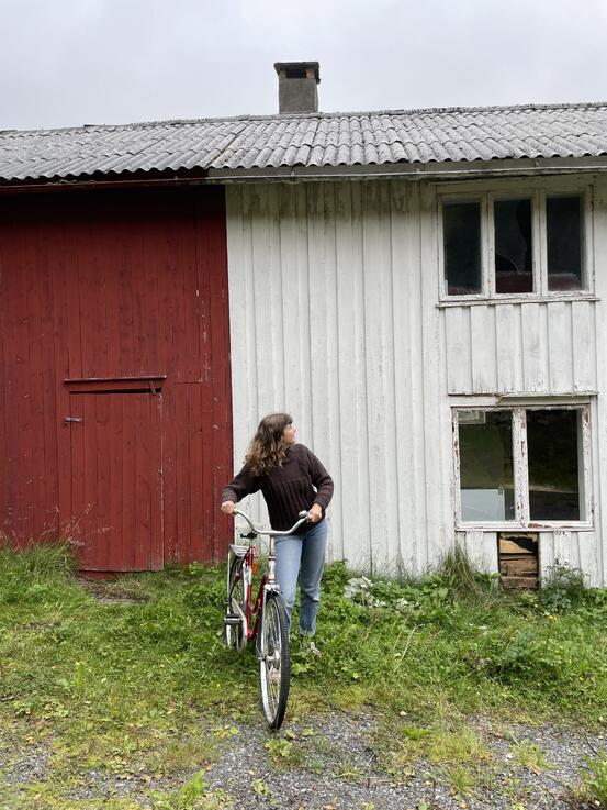
[[458, 522], [588, 522], [587, 404], [453, 413]]

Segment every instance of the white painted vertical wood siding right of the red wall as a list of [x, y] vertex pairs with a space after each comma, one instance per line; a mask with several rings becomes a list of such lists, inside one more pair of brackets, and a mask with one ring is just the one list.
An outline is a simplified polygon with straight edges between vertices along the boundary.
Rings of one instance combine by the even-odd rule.
[[[598, 298], [607, 297], [607, 193], [599, 203]], [[454, 542], [452, 396], [605, 390], [600, 301], [439, 306], [429, 184], [232, 185], [226, 204], [235, 467], [260, 417], [291, 412], [299, 440], [335, 479], [333, 558], [420, 572]], [[592, 420], [595, 531], [542, 532], [540, 544], [543, 572], [569, 547], [598, 582], [607, 562], [600, 397]], [[254, 514], [265, 515], [258, 499]], [[495, 533], [458, 536], [497, 569]]]

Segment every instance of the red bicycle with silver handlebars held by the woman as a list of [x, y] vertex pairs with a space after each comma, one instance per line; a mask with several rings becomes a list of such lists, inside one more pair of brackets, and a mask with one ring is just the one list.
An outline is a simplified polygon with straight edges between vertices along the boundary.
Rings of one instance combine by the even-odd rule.
[[[224, 618], [224, 641], [226, 646], [235, 646], [244, 652], [249, 641], [255, 641], [259, 661], [261, 704], [270, 729], [280, 729], [286, 710], [291, 684], [291, 661], [289, 652], [289, 621], [286, 609], [276, 580], [274, 539], [293, 534], [307, 520], [307, 512], [299, 513], [297, 522], [288, 531], [260, 529], [254, 525], [248, 514], [235, 509], [250, 526], [248, 533], [239, 533], [247, 545], [233, 543], [227, 555], [227, 604]], [[268, 569], [261, 578], [259, 591], [251, 603], [252, 575], [257, 573], [255, 546], [258, 534], [270, 539]], [[255, 624], [251, 620], [255, 615]]]

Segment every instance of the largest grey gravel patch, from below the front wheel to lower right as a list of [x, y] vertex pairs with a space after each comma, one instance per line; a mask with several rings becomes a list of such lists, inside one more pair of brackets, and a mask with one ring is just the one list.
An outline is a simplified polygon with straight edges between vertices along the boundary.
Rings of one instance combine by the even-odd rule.
[[[234, 810], [406, 810], [425, 805], [428, 810], [557, 810], [572, 807], [571, 788], [578, 783], [584, 757], [596, 756], [606, 745], [602, 735], [551, 725], [471, 724], [492, 752], [491, 776], [485, 774], [471, 795], [454, 796], [440, 766], [428, 762], [394, 779], [380, 768], [372, 748], [376, 721], [347, 713], [292, 726], [295, 739], [282, 766], [282, 757], [272, 757], [265, 747], [276, 745], [277, 735], [261, 725], [240, 726], [206, 778], [212, 787], [227, 790]], [[518, 765], [512, 746], [522, 741], [538, 746], [550, 766], [535, 773]], [[301, 757], [293, 755], [297, 745], [304, 747]]]

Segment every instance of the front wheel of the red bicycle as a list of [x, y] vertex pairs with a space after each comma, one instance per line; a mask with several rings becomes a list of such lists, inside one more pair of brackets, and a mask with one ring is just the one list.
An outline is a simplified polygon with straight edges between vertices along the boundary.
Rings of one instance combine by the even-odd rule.
[[289, 622], [280, 593], [270, 591], [266, 597], [261, 621], [259, 679], [261, 703], [270, 729], [280, 729], [286, 710], [291, 683], [289, 657]]

